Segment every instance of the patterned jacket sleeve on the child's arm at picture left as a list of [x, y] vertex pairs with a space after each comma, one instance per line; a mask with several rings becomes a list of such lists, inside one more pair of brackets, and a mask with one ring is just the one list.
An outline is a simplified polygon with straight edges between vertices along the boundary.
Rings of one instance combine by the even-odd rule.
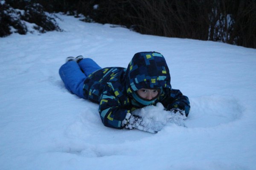
[[107, 88], [100, 98], [99, 114], [106, 127], [122, 129], [122, 121], [130, 110], [122, 108], [121, 102], [117, 98], [118, 95], [118, 92]]

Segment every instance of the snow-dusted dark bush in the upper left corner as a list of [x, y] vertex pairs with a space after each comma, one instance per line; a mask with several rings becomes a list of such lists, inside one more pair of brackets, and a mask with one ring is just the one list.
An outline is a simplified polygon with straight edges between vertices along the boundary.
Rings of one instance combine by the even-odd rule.
[[0, 3], [0, 37], [10, 35], [12, 32], [26, 34], [32, 29], [44, 33], [47, 31], [61, 31], [55, 19], [49, 17], [39, 3], [29, 0], [6, 0]]

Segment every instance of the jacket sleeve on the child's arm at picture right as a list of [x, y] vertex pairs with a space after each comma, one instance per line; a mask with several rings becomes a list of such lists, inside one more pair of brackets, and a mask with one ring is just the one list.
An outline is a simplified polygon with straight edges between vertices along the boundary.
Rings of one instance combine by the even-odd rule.
[[167, 94], [166, 98], [161, 101], [161, 103], [167, 110], [178, 108], [184, 110], [186, 116], [189, 115], [189, 98], [183, 95], [178, 89], [171, 89], [171, 91]]

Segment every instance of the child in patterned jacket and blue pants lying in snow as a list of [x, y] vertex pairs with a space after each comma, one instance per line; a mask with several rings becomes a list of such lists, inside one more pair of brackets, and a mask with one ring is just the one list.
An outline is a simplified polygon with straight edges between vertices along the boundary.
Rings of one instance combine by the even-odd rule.
[[169, 68], [158, 52], [136, 53], [127, 69], [102, 69], [90, 58], [68, 57], [59, 74], [70, 92], [99, 103], [99, 114], [107, 127], [141, 129], [143, 119], [131, 112], [157, 102], [166, 110], [189, 114], [189, 99], [172, 89]]

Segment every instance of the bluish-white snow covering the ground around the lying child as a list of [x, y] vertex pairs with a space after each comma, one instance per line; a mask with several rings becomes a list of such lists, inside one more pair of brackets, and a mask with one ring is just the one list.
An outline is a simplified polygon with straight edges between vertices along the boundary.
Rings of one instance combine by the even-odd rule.
[[[256, 169], [256, 49], [57, 16], [64, 32], [0, 38], [1, 170]], [[142, 51], [162, 53], [172, 87], [189, 97], [185, 126], [104, 127], [98, 105], [71, 95], [58, 75], [67, 56], [127, 67]], [[139, 112], [166, 114], [161, 105]]]

